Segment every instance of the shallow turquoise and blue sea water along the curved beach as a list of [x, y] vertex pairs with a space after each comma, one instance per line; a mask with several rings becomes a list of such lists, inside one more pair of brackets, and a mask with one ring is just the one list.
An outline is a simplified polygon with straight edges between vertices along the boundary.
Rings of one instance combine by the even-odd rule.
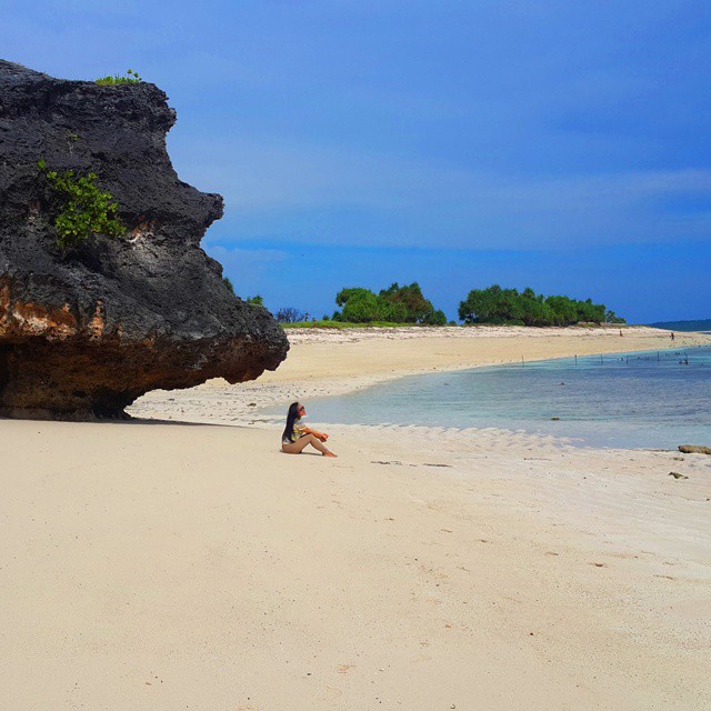
[[494, 427], [595, 447], [711, 445], [711, 348], [412, 375], [308, 404], [314, 422]]

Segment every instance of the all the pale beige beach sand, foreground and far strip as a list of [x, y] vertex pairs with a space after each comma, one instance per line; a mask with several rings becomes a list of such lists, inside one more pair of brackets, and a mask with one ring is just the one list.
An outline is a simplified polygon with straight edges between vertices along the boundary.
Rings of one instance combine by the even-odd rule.
[[668, 344], [553, 331], [294, 333], [263, 381], [134, 408], [230, 427], [1, 421], [0, 708], [711, 708], [711, 458], [338, 427], [326, 460], [244, 424], [260, 393]]

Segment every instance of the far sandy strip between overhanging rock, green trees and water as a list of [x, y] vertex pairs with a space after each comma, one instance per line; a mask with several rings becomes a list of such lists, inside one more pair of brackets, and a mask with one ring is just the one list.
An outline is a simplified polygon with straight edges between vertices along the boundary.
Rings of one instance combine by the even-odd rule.
[[[217, 379], [189, 390], [157, 390], [139, 399], [129, 412], [147, 419], [262, 425], [264, 415], [260, 410], [277, 402], [349, 394], [408, 375], [512, 364], [520, 358], [511, 354], [513, 342], [519, 344], [519, 352], [527, 352], [527, 362], [575, 354], [711, 346], [711, 334], [684, 333], [669, 348], [669, 333], [650, 327], [628, 327], [627, 340], [620, 342], [623, 339], [617, 334], [618, 330], [578, 327], [412, 327], [352, 332], [290, 329], [291, 351], [277, 371], [238, 385]], [[450, 339], [455, 341], [453, 348]], [[481, 352], [478, 352], [480, 346]], [[413, 357], [418, 359], [415, 364]], [[216, 414], [218, 412], [220, 414]]]

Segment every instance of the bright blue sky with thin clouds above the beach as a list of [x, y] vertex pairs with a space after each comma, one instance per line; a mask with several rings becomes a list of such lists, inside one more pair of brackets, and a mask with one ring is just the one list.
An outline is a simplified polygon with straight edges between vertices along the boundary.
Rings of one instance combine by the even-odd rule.
[[418, 281], [711, 318], [711, 3], [0, 0], [0, 57], [137, 70], [203, 247], [243, 297], [321, 317]]

